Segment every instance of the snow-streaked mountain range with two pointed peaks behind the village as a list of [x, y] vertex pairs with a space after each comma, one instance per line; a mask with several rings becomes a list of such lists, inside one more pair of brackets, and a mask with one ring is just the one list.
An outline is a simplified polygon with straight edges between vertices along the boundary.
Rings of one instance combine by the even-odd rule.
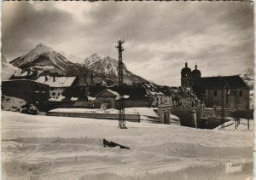
[[[85, 58], [83, 63], [73, 63], [74, 55], [67, 55], [63, 52], [55, 51], [44, 44], [38, 44], [26, 55], [22, 55], [13, 61], [10, 61], [15, 67], [21, 69], [37, 69], [40, 73], [45, 71], [64, 74], [67, 76], [77, 76], [84, 73], [96, 73], [102, 78], [111, 78], [118, 82], [118, 63], [119, 61], [112, 57], [102, 58], [94, 54]], [[70, 61], [68, 58], [72, 58]], [[147, 81], [130, 71], [124, 65], [124, 83], [133, 84]]]

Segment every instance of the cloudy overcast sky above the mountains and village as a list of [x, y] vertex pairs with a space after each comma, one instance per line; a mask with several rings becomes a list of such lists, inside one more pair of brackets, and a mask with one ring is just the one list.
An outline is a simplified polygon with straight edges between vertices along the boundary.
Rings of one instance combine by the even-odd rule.
[[3, 2], [2, 52], [9, 61], [37, 44], [85, 59], [123, 61], [157, 84], [180, 85], [188, 61], [202, 76], [253, 67], [253, 5], [234, 2]]

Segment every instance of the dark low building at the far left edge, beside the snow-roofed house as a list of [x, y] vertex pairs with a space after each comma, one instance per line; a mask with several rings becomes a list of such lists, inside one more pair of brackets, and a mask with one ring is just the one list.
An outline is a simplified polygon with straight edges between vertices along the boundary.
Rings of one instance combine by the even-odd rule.
[[49, 85], [28, 79], [2, 81], [2, 94], [13, 96], [45, 110], [49, 99]]

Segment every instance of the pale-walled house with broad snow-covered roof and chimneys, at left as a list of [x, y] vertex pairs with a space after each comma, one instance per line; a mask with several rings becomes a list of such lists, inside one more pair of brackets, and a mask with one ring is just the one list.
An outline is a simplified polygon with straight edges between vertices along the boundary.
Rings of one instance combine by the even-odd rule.
[[68, 87], [72, 86], [76, 81], [76, 77], [55, 77], [41, 76], [36, 82], [49, 85], [50, 99], [58, 99], [62, 97], [62, 93]]

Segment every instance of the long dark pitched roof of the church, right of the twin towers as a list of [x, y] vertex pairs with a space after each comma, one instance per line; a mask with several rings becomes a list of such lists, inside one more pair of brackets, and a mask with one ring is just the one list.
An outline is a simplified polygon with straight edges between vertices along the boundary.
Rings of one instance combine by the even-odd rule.
[[220, 89], [222, 87], [222, 79], [224, 80], [224, 88], [248, 88], [239, 75], [198, 78], [195, 80], [194, 85], [201, 89]]

